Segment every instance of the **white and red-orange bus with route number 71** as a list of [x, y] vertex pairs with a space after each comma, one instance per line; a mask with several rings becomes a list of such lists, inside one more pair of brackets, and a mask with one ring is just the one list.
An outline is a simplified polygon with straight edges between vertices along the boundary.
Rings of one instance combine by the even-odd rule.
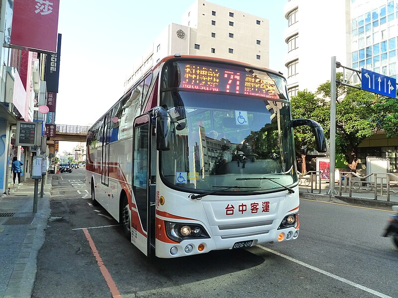
[[90, 128], [86, 183], [147, 256], [292, 241], [299, 233], [292, 119], [281, 73], [174, 55]]

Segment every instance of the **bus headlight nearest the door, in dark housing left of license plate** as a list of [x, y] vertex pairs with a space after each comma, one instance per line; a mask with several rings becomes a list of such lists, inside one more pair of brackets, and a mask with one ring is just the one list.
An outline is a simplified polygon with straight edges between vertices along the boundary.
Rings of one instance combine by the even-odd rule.
[[200, 224], [165, 222], [167, 236], [176, 242], [184, 239], [210, 238]]

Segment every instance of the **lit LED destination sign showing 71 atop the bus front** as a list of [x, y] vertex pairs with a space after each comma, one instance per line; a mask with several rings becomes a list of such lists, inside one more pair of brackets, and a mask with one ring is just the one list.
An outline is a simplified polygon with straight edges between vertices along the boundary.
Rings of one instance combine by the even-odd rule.
[[[269, 74], [244, 68], [225, 68], [219, 64], [179, 62], [180, 88], [213, 92], [231, 92], [279, 99], [277, 84]], [[275, 76], [278, 80], [283, 80]], [[282, 84], [281, 84], [282, 85]]]

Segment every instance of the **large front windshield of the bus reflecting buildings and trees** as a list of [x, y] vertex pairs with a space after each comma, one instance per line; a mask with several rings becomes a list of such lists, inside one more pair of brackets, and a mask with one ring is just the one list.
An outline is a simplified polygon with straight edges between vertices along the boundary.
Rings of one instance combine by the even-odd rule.
[[[207, 83], [184, 79], [190, 69], [187, 63], [179, 63], [166, 69], [167, 87], [161, 90], [161, 104], [172, 118], [170, 150], [160, 154], [162, 180], [187, 192], [229, 188], [225, 192], [229, 195], [282, 191], [286, 189], [281, 185], [295, 184], [293, 129], [284, 78], [263, 73], [268, 86], [245, 91], [239, 84], [230, 84], [228, 90], [228, 80], [220, 79], [211, 90]], [[210, 67], [225, 74], [226, 66], [206, 65]], [[227, 71], [240, 78], [245, 73], [252, 76], [247, 69]], [[170, 83], [167, 78], [175, 78], [173, 72], [179, 78]], [[177, 126], [182, 123], [185, 126]]]

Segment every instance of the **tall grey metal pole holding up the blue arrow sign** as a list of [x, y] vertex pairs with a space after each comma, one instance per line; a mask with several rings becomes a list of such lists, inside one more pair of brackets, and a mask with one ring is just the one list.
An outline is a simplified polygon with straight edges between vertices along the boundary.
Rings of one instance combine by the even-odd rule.
[[332, 57], [332, 71], [330, 78], [330, 147], [329, 147], [329, 191], [334, 195], [334, 171], [336, 165], [336, 56]]

